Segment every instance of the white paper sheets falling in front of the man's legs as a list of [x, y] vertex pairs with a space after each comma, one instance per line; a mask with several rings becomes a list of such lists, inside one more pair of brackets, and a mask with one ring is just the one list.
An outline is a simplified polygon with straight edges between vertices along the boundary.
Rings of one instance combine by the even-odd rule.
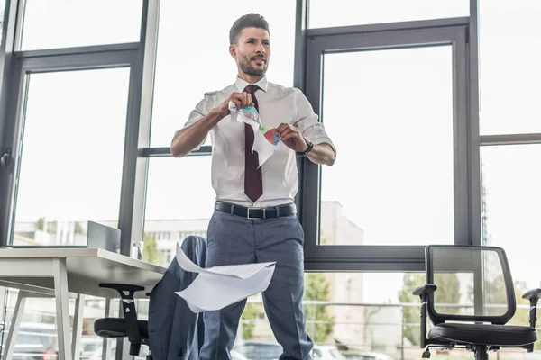
[[208, 269], [194, 264], [177, 243], [177, 261], [185, 271], [198, 273], [196, 280], [177, 294], [193, 312], [215, 311], [264, 292], [274, 274], [275, 262], [214, 266]]

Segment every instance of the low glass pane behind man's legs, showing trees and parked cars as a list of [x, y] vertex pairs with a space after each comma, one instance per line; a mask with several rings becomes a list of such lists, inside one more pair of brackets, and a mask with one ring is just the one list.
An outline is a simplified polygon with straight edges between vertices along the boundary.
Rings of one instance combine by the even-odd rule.
[[[420, 301], [412, 292], [422, 284], [424, 273], [307, 273], [303, 311], [314, 360], [419, 358]], [[261, 295], [248, 299], [234, 350], [280, 357]]]

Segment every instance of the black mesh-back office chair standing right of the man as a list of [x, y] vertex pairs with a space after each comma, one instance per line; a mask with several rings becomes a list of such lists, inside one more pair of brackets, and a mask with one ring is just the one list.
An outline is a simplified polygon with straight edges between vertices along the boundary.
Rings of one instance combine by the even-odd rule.
[[[426, 284], [413, 292], [421, 298], [420, 347], [426, 348], [423, 357], [430, 357], [429, 347], [466, 348], [476, 360], [488, 360], [487, 350], [502, 347], [534, 350], [541, 289], [523, 296], [530, 302], [529, 326], [505, 325], [515, 314], [517, 302], [502, 248], [428, 246], [425, 262]], [[442, 295], [453, 289], [460, 293], [458, 303], [445, 303]], [[426, 313], [434, 324], [428, 334]]]

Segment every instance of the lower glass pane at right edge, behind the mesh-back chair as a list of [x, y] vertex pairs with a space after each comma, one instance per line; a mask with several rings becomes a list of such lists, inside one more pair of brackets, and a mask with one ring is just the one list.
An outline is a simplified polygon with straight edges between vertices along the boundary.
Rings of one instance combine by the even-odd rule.
[[[515, 282], [518, 309], [512, 323], [527, 325], [527, 290], [541, 287], [536, 251], [541, 228], [540, 145], [481, 148], [483, 243], [503, 247]], [[538, 342], [541, 347], [541, 342]]]

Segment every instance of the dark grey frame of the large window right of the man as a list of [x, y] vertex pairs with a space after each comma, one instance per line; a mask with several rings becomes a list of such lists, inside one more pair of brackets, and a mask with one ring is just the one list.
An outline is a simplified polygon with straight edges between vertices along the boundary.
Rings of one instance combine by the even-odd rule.
[[[470, 216], [468, 113], [469, 18], [347, 26], [307, 31], [307, 98], [321, 113], [325, 54], [371, 49], [453, 47], [454, 102], [454, 244], [474, 241]], [[325, 121], [325, 119], [323, 120]], [[303, 159], [300, 220], [305, 230], [305, 267], [311, 271], [421, 271], [425, 246], [319, 246], [321, 166]]]

